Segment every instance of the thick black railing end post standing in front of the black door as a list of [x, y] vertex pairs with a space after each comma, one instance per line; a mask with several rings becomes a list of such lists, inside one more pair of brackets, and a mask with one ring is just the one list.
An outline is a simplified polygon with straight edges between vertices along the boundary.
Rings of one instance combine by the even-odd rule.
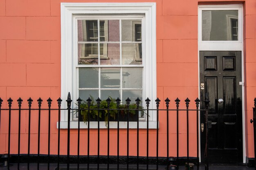
[[205, 170], [209, 170], [209, 161], [208, 161], [208, 110], [209, 110], [209, 102], [208, 95], [206, 95], [206, 99], [204, 100], [205, 103], [205, 126], [206, 126], [206, 148], [205, 148]]

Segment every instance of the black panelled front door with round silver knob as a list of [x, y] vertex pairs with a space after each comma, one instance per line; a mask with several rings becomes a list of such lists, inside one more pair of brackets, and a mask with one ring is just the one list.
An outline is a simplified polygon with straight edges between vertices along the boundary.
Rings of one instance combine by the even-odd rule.
[[[209, 162], [243, 162], [240, 51], [200, 51], [200, 99], [209, 94]], [[222, 100], [223, 102], [222, 102]], [[205, 153], [205, 116], [200, 115], [201, 159]]]

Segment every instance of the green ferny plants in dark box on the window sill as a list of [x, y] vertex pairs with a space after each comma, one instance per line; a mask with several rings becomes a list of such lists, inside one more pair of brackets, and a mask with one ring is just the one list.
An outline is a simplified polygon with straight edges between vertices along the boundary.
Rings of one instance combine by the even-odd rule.
[[[90, 98], [92, 99], [92, 102], [90, 103], [90, 121], [92, 121], [92, 120], [97, 121], [98, 114], [99, 114], [99, 118], [100, 119], [104, 118], [105, 125], [107, 126], [107, 124], [108, 124], [108, 102], [107, 102], [107, 100], [101, 101], [100, 106], [99, 106], [100, 111], [98, 111], [97, 110], [98, 109], [97, 102], [94, 101], [94, 98], [92, 96], [90, 96]], [[110, 120], [117, 121], [118, 110], [117, 110], [117, 103], [115, 102], [116, 99], [111, 98], [110, 96], [109, 96], [109, 98], [111, 100], [110, 104], [109, 104]], [[88, 122], [88, 111], [89, 111], [88, 102], [82, 100], [80, 109], [82, 109], [81, 116], [82, 116], [83, 122], [87, 123]], [[126, 110], [123, 110], [123, 109], [126, 109]], [[134, 109], [137, 109], [136, 103], [131, 103], [129, 105], [129, 110], [127, 110], [127, 104], [120, 104], [119, 105], [119, 121], [122, 121], [122, 120], [120, 120], [121, 118], [123, 118], [123, 121], [127, 121], [127, 119], [124, 120], [124, 117], [127, 116], [127, 113], [129, 113], [130, 118], [134, 118], [136, 115], [136, 112], [137, 112], [137, 110], [134, 110]], [[139, 109], [143, 109], [143, 107], [139, 106]], [[139, 110], [139, 112], [140, 112], [141, 117], [144, 117], [144, 110]], [[137, 121], [137, 119], [136, 119], [136, 121]]]

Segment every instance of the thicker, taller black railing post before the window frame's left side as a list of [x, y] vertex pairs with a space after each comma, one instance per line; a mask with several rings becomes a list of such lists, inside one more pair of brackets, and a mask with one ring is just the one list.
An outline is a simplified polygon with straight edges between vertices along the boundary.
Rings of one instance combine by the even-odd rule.
[[70, 169], [70, 110], [71, 110], [71, 96], [70, 92], [67, 95], [67, 170]]

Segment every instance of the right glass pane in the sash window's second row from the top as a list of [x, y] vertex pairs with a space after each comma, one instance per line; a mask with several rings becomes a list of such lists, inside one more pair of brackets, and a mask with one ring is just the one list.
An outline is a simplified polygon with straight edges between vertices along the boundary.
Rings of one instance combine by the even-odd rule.
[[142, 50], [139, 43], [122, 43], [122, 64], [142, 64]]

